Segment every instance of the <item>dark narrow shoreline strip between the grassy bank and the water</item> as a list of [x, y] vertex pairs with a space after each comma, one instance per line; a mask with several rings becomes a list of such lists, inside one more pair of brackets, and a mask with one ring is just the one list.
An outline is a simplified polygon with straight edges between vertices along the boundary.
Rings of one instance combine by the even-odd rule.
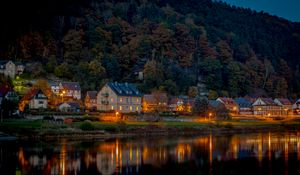
[[97, 140], [115, 138], [140, 138], [140, 137], [182, 137], [182, 136], [202, 136], [202, 135], [232, 135], [232, 134], [252, 134], [261, 132], [300, 132], [300, 125], [274, 125], [274, 126], [236, 126], [232, 128], [158, 128], [151, 131], [144, 131], [137, 128], [135, 131], [109, 133], [105, 131], [75, 131], [75, 132], [45, 132], [31, 134], [13, 134], [17, 140]]

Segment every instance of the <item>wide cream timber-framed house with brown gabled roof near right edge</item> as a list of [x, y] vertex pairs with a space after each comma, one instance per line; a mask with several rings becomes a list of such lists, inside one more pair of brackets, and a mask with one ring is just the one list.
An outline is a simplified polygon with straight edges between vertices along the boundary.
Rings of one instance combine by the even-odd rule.
[[281, 115], [281, 106], [277, 105], [271, 98], [258, 98], [252, 106], [254, 115], [269, 117]]

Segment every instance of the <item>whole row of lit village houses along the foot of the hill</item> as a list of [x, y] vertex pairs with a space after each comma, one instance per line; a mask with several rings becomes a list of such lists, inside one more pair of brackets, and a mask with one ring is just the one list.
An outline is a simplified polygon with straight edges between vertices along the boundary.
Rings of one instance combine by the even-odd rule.
[[[2, 62], [0, 73], [18, 79], [24, 65], [12, 61]], [[122, 118], [123, 115], [152, 116], [195, 116], [195, 98], [187, 95], [168, 96], [167, 93], [153, 91], [142, 94], [135, 84], [108, 82], [99, 91], [82, 92], [78, 82], [36, 80], [20, 97], [18, 86], [1, 87], [0, 103], [4, 100], [17, 101], [17, 111], [10, 114], [43, 115], [49, 114], [92, 114]], [[84, 94], [84, 95], [82, 95]], [[3, 108], [3, 107], [2, 107]], [[2, 111], [3, 109], [1, 109]], [[208, 100], [207, 112], [198, 116], [206, 119], [273, 118], [296, 117], [300, 113], [300, 100], [266, 97], [218, 97]], [[1, 112], [2, 114], [2, 112]], [[105, 117], [104, 117], [105, 118]]]

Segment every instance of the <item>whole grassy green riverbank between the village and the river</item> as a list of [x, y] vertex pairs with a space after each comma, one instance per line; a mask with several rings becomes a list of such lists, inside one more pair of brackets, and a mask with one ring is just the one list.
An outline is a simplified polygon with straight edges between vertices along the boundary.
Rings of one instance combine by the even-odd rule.
[[0, 131], [18, 139], [108, 139], [147, 136], [192, 136], [255, 132], [300, 131], [300, 120], [289, 121], [199, 121], [199, 122], [74, 122], [11, 119], [0, 123]]

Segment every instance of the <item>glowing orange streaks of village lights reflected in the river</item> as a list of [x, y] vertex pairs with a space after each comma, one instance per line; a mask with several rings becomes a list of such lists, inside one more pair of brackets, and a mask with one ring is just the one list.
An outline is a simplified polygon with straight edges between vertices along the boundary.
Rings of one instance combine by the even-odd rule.
[[[49, 150], [52, 150], [49, 154]], [[255, 158], [261, 167], [264, 160], [283, 160], [288, 174], [291, 154], [300, 161], [300, 135], [251, 134], [233, 136], [200, 136], [180, 139], [136, 139], [81, 143], [61, 141], [47, 148], [22, 145], [18, 148], [18, 166], [24, 172], [41, 174], [80, 174], [81, 170], [96, 170], [101, 174], [142, 173], [145, 165], [160, 168], [172, 161], [178, 165], [199, 161], [209, 171], [223, 161]], [[300, 169], [300, 167], [299, 167]], [[93, 170], [93, 171], [94, 171]], [[269, 174], [269, 173], [268, 173]]]

